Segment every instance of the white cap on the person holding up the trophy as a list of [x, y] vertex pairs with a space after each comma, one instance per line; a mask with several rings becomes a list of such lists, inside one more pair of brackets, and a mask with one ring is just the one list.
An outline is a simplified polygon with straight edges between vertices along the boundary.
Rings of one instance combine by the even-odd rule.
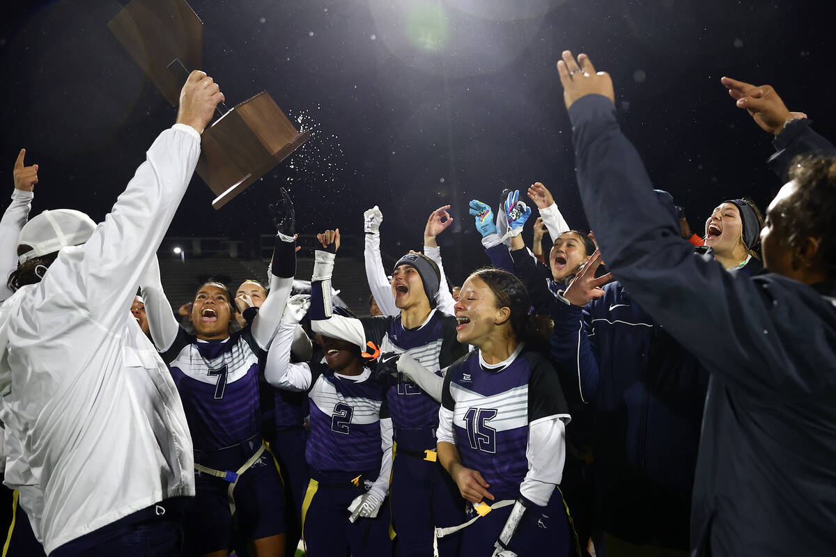
[[79, 210], [45, 210], [20, 230], [18, 246], [30, 246], [32, 249], [18, 256], [18, 262], [54, 253], [64, 246], [84, 244], [95, 228], [93, 219]]

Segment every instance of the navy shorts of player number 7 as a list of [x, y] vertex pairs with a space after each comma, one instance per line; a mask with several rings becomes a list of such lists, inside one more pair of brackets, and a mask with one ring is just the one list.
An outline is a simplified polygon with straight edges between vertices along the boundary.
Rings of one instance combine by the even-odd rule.
[[[256, 447], [257, 449], [258, 447]], [[216, 470], [237, 470], [250, 454], [230, 449], [195, 451], [195, 462]], [[183, 518], [186, 554], [205, 554], [232, 546], [232, 513], [227, 480], [195, 471], [195, 498]], [[284, 488], [273, 455], [262, 455], [238, 477], [232, 492], [241, 539], [267, 538], [285, 532]]]

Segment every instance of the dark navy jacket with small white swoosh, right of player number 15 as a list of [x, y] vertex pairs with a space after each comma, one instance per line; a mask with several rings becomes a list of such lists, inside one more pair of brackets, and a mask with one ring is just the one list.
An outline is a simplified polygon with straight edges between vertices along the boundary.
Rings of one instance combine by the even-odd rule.
[[686, 549], [708, 373], [624, 290], [553, 306], [551, 353], [571, 407], [594, 408], [599, 526]]

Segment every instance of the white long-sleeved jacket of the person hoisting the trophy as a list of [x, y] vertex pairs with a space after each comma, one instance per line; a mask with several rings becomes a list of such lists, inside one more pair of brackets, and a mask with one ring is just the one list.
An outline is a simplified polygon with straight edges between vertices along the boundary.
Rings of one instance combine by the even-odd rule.
[[23, 441], [5, 484], [41, 487], [47, 554], [195, 493], [180, 397], [130, 305], [199, 155], [194, 129], [164, 131], [89, 241], [0, 306], [0, 419]]

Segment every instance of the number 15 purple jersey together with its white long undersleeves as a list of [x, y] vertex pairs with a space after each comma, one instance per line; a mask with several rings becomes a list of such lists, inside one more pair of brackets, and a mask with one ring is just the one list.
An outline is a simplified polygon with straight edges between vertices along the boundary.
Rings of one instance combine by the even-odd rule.
[[[447, 370], [439, 440], [455, 438], [461, 463], [482, 473], [497, 500], [516, 499], [528, 477], [537, 480], [533, 484], [552, 485], [548, 494], [530, 496], [546, 504], [563, 471], [563, 423], [569, 421], [557, 373], [523, 345], [499, 364], [486, 364], [481, 356], [471, 352]], [[535, 434], [538, 424], [545, 427]], [[534, 466], [543, 456], [538, 453], [559, 458]]]

